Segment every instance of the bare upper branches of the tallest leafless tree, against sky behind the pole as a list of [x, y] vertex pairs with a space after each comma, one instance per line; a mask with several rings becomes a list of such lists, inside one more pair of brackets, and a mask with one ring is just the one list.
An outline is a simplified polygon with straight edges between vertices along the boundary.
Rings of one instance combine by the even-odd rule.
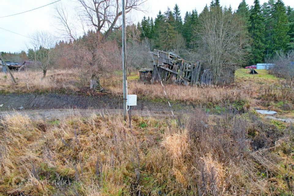
[[[131, 10], [140, 10], [141, 5], [147, 0], [126, 0], [126, 13]], [[95, 29], [96, 32], [103, 32], [104, 38], [110, 33], [120, 28], [119, 19], [122, 15], [120, 0], [77, 0], [77, 10], [81, 27], [85, 26]], [[70, 24], [68, 14], [64, 7], [56, 6], [57, 18], [59, 19], [63, 30], [73, 40], [76, 40], [76, 34], [73, 25]], [[75, 21], [77, 23], [77, 21]]]

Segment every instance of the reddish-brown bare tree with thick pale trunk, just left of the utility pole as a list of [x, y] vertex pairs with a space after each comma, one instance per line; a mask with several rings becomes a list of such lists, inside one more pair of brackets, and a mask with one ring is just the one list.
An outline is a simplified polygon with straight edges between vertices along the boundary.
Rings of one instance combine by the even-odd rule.
[[100, 75], [110, 73], [120, 60], [116, 56], [119, 51], [115, 41], [102, 42], [102, 39], [103, 35], [100, 32], [88, 32], [73, 43], [71, 56], [79, 67], [75, 74], [82, 87], [86, 85], [85, 78], [88, 78], [91, 89], [99, 88]]

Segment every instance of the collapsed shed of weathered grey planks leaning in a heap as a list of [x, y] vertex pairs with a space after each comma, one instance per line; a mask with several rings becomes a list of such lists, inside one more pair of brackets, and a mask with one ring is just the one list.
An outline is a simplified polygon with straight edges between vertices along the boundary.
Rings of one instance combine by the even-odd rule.
[[[231, 82], [234, 74], [234, 70], [226, 70], [221, 82]], [[190, 62], [172, 51], [154, 50], [151, 82], [160, 82], [160, 79], [168, 84], [210, 85], [213, 83], [213, 74], [200, 60]]]

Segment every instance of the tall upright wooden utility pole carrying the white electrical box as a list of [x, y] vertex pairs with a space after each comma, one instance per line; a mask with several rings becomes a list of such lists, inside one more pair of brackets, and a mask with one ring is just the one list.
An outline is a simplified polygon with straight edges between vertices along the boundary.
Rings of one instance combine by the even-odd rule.
[[127, 119], [127, 106], [126, 99], [128, 94], [128, 87], [126, 82], [126, 7], [125, 0], [122, 0], [122, 12], [123, 12], [123, 119]]

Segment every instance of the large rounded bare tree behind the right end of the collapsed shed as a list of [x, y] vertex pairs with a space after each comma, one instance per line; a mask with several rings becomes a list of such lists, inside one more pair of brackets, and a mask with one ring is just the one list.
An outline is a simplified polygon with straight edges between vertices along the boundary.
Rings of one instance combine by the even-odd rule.
[[212, 71], [214, 82], [223, 82], [225, 72], [246, 61], [248, 36], [245, 24], [228, 9], [213, 7], [199, 16], [195, 29], [199, 58]]

